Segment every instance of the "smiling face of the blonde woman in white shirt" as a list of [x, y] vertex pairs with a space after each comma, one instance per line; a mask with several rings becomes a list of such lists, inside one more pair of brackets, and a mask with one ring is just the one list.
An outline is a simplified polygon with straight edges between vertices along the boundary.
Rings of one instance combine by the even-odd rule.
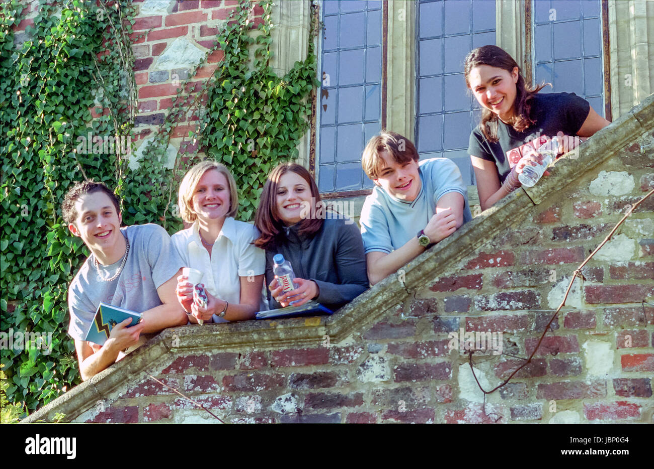
[[190, 208], [202, 221], [225, 218], [230, 211], [230, 185], [222, 172], [206, 171], [193, 191]]

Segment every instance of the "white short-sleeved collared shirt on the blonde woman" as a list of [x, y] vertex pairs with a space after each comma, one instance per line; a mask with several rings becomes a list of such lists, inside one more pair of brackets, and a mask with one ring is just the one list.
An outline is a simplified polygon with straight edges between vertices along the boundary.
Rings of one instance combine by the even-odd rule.
[[[262, 275], [266, 272], [266, 253], [250, 244], [258, 236], [254, 225], [226, 217], [214, 241], [211, 258], [200, 239], [198, 221], [188, 229], [173, 234], [171, 239], [184, 260], [184, 265], [204, 273], [201, 283], [204, 283], [205, 289], [211, 295], [231, 304], [239, 304], [240, 277]], [[259, 306], [260, 310], [267, 310], [266, 298], [263, 295]], [[213, 320], [216, 323], [228, 322], [217, 315], [213, 315]]]

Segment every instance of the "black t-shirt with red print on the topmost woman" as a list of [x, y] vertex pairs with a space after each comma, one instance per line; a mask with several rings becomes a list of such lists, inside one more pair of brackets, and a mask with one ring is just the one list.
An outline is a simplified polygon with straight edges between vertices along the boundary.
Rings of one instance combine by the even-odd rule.
[[[577, 135], [588, 117], [591, 105], [574, 93], [540, 93], [532, 98], [531, 116], [536, 123], [524, 132], [498, 120], [498, 142], [489, 142], [477, 126], [470, 133], [468, 154], [494, 161], [500, 182], [504, 182], [511, 168], [526, 150], [532, 149], [532, 140], [539, 137], [556, 137], [557, 133]], [[536, 145], [539, 146], [539, 145]]]

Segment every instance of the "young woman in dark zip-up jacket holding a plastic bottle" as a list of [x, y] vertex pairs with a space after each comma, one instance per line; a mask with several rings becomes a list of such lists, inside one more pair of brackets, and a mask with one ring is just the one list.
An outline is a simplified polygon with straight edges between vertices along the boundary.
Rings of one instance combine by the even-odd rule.
[[[318, 187], [301, 165], [286, 163], [268, 175], [254, 225], [254, 242], [266, 250], [266, 284], [270, 308], [309, 300], [336, 310], [368, 289], [366, 255], [356, 223], [328, 215]], [[284, 293], [273, 274], [273, 257], [290, 261], [295, 289]]]

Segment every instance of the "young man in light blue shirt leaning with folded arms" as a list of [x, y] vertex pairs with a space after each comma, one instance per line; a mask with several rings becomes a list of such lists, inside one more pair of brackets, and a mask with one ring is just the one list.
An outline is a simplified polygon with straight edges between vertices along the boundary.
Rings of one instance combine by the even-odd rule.
[[360, 218], [372, 285], [472, 219], [456, 164], [418, 159], [411, 140], [391, 131], [371, 138], [364, 149], [361, 163], [375, 182]]

